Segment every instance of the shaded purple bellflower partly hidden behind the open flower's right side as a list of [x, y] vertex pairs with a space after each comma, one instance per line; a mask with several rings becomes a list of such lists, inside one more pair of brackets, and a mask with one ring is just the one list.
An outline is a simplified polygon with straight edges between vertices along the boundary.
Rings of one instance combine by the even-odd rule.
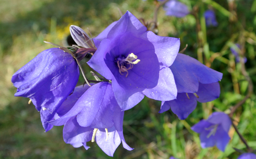
[[174, 100], [163, 101], [159, 113], [171, 108], [171, 111], [183, 120], [197, 107], [197, 101], [206, 103], [219, 97], [218, 81], [222, 79], [222, 73], [180, 53], [170, 68], [178, 94]]

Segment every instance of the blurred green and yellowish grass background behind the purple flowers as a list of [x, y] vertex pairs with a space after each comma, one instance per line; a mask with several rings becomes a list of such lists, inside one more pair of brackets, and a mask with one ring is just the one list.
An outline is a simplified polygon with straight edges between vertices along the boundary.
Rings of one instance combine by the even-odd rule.
[[[148, 98], [125, 112], [123, 132], [133, 151], [120, 145], [113, 159], [236, 159], [245, 150], [234, 128], [225, 152], [217, 148], [202, 149], [197, 133], [190, 127], [213, 111], [225, 111], [247, 93], [248, 82], [241, 75], [241, 65], [229, 48], [240, 43], [244, 47], [245, 63], [253, 83], [256, 83], [256, 0], [180, 0], [193, 15], [184, 18], [166, 16], [160, 8], [160, 36], [181, 38], [181, 50], [208, 67], [222, 72], [221, 95], [209, 103], [198, 103], [186, 120], [179, 120], [171, 111], [158, 113], [160, 102]], [[47, 133], [40, 114], [28, 98], [14, 97], [16, 88], [12, 74], [41, 51], [53, 46], [50, 41], [65, 46], [69, 26], [91, 30], [96, 36], [129, 10], [145, 21], [153, 19], [154, 0], [0, 0], [0, 159], [112, 159], [96, 143], [88, 142], [87, 151], [65, 144], [62, 128]], [[219, 26], [206, 27], [203, 12], [215, 10]], [[89, 68], [82, 62], [85, 70]], [[87, 73], [90, 77], [90, 73]], [[83, 79], [80, 78], [80, 83]], [[255, 90], [255, 89], [254, 89]], [[253, 94], [237, 109], [234, 118], [248, 144], [256, 149], [256, 96]]]

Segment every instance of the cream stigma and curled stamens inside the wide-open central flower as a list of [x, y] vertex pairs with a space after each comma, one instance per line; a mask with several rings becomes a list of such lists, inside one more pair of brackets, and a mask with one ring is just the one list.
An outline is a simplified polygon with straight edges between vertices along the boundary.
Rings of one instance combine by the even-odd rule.
[[134, 55], [133, 53], [130, 53], [126, 58], [123, 58], [123, 59], [121, 57], [118, 57], [116, 60], [117, 60], [117, 66], [119, 68], [119, 73], [121, 75], [123, 75], [122, 72], [127, 72], [127, 74], [125, 76], [125, 77], [127, 77], [128, 70], [132, 69], [133, 65], [140, 62], [140, 60], [137, 58], [138, 58], [138, 56]]

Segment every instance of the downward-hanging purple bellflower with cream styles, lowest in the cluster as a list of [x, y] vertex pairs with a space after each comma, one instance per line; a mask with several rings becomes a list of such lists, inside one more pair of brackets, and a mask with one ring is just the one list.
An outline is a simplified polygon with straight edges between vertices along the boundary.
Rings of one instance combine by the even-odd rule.
[[123, 115], [115, 99], [112, 85], [100, 82], [89, 87], [76, 87], [59, 108], [58, 116], [49, 123], [64, 125], [63, 138], [74, 147], [84, 146], [86, 142], [96, 140], [99, 147], [109, 156], [113, 156], [118, 145], [130, 148], [123, 137]]

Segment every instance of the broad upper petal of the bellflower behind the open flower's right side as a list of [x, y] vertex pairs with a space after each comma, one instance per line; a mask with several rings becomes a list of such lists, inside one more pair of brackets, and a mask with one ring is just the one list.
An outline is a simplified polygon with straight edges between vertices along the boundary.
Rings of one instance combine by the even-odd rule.
[[170, 68], [178, 92], [194, 93], [198, 90], [198, 82], [208, 84], [222, 79], [222, 73], [184, 54], [178, 54]]

